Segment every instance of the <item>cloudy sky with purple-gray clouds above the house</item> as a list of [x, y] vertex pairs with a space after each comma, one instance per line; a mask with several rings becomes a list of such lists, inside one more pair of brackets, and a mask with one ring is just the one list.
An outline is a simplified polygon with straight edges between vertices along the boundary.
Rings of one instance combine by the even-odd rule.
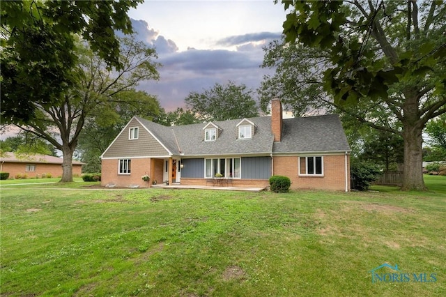
[[129, 12], [134, 31], [156, 48], [162, 63], [159, 82], [139, 89], [156, 95], [167, 111], [185, 107], [192, 91], [215, 83], [260, 86], [262, 47], [279, 39], [286, 19], [273, 0], [169, 1], [146, 0]]

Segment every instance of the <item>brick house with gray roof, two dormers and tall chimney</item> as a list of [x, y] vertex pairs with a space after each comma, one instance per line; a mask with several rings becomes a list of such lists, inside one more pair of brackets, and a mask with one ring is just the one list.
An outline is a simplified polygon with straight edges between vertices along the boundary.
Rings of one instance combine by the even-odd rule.
[[[134, 116], [101, 155], [101, 185], [230, 184], [266, 187], [288, 176], [292, 189], [350, 190], [350, 146], [337, 115], [271, 116], [167, 127]], [[221, 178], [216, 178], [221, 174]]]

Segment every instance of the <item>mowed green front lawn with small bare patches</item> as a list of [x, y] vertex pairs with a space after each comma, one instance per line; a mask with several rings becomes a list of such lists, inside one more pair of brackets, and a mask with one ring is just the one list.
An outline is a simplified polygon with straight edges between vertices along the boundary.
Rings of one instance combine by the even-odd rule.
[[[443, 176], [409, 193], [83, 185], [1, 187], [1, 296], [446, 295]], [[437, 281], [372, 283], [384, 263]]]

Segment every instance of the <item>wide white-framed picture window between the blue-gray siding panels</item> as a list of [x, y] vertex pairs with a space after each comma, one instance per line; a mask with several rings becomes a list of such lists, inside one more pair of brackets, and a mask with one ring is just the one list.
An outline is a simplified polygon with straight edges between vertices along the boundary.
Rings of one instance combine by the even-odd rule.
[[240, 178], [240, 158], [206, 159], [204, 162], [205, 178], [213, 178], [217, 173], [226, 178]]

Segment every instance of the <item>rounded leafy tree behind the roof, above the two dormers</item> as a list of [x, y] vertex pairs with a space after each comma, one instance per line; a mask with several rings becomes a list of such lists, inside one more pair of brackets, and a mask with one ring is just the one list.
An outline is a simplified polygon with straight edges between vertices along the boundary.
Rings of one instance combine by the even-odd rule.
[[245, 84], [215, 84], [203, 93], [191, 92], [185, 102], [202, 121], [225, 121], [259, 116], [253, 91]]

